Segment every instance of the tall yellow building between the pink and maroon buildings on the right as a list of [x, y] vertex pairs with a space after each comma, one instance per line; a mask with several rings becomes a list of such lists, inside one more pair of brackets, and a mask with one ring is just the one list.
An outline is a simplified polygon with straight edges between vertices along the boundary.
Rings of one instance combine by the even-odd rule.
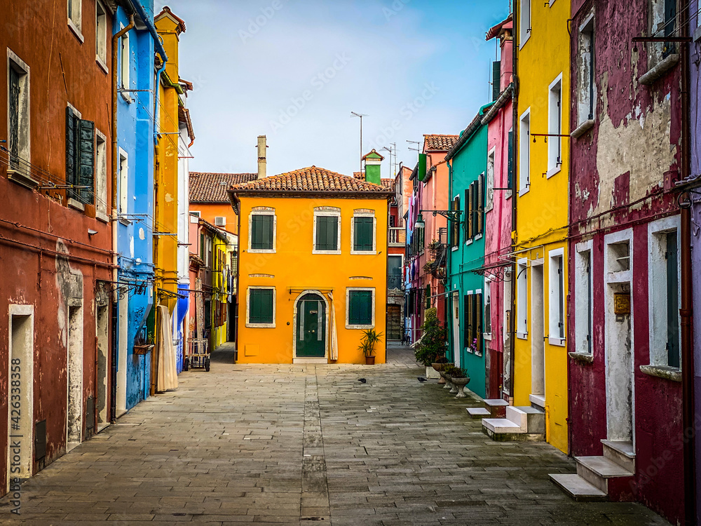
[[542, 407], [547, 442], [567, 452], [570, 2], [517, 0], [515, 13], [514, 405]]

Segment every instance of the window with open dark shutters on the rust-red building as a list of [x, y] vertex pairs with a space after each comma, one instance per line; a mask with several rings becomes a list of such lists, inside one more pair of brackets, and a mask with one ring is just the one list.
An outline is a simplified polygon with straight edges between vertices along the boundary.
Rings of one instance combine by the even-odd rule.
[[93, 204], [95, 192], [95, 123], [83, 121], [72, 107], [66, 108], [66, 183], [69, 199]]

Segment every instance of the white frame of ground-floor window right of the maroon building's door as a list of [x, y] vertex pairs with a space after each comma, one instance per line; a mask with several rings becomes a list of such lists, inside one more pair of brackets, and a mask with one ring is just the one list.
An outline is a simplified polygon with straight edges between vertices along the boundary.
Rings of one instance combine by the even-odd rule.
[[[664, 219], [648, 223], [648, 316], [650, 320], [649, 343], [650, 365], [669, 367], [667, 356], [667, 251], [666, 234], [676, 231], [677, 236], [677, 262], [681, 261], [680, 238], [681, 217], [674, 215]], [[677, 269], [677, 298], [681, 299], [681, 264]], [[681, 338], [681, 316], [679, 325]], [[681, 349], [681, 342], [678, 342]], [[676, 370], [676, 367], [673, 368]], [[681, 359], [679, 360], [681, 370]]]

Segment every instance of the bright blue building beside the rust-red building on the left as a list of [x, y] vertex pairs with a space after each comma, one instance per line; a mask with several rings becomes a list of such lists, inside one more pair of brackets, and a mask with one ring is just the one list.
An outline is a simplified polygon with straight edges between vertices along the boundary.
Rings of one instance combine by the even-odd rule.
[[[117, 416], [149, 396], [154, 305], [153, 0], [132, 0], [135, 27], [119, 39], [117, 69]], [[113, 34], [129, 25], [121, 6]], [[158, 44], [160, 46], [160, 43]], [[135, 352], [135, 344], [137, 351]], [[145, 347], [142, 345], [146, 345]]]

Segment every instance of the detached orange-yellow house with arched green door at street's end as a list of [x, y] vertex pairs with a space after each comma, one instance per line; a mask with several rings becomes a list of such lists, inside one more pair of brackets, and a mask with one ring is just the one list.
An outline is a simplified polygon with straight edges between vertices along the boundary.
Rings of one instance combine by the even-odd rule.
[[367, 329], [382, 333], [374, 356], [384, 363], [391, 191], [312, 166], [230, 193], [238, 363], [365, 363]]

